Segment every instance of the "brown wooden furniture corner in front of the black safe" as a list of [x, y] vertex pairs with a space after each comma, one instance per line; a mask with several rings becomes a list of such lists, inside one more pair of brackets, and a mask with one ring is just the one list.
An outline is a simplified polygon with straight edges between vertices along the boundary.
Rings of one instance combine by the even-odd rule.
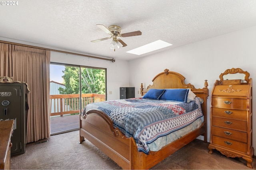
[[13, 120], [0, 121], [0, 169], [11, 168]]

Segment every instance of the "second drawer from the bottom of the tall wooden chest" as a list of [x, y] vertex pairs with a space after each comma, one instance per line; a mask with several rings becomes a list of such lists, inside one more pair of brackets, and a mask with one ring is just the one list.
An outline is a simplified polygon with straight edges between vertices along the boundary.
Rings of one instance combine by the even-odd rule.
[[247, 143], [247, 133], [241, 131], [234, 131], [231, 129], [225, 129], [221, 127], [212, 126], [212, 135], [218, 137], [224, 137], [226, 139], [231, 139], [234, 141], [240, 141], [243, 143]]

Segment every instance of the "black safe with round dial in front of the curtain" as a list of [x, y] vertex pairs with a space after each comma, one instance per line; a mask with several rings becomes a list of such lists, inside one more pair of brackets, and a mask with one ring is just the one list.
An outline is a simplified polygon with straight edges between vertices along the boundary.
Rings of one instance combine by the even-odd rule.
[[24, 83], [0, 83], [0, 120], [14, 120], [11, 156], [25, 153], [26, 97], [27, 87]]

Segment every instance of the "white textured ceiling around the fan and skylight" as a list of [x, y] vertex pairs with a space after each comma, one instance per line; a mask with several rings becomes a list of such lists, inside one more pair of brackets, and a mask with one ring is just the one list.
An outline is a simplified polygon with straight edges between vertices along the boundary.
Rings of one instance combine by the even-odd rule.
[[[0, 15], [0, 40], [132, 60], [252, 27], [256, 0], [18, 0], [1, 5]], [[142, 35], [122, 37], [127, 46], [114, 51], [110, 39], [90, 42], [110, 37], [96, 24]], [[126, 53], [159, 39], [173, 45], [140, 56]]]

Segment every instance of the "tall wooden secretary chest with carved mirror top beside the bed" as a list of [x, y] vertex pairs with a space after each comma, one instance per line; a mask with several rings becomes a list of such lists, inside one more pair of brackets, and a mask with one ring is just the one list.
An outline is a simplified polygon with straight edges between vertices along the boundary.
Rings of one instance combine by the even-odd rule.
[[[227, 77], [242, 76], [230, 80]], [[241, 68], [220, 74], [212, 89], [211, 141], [212, 149], [227, 157], [242, 157], [252, 168], [252, 78]], [[224, 78], [223, 78], [224, 77]], [[227, 80], [228, 79], [228, 80]]]

